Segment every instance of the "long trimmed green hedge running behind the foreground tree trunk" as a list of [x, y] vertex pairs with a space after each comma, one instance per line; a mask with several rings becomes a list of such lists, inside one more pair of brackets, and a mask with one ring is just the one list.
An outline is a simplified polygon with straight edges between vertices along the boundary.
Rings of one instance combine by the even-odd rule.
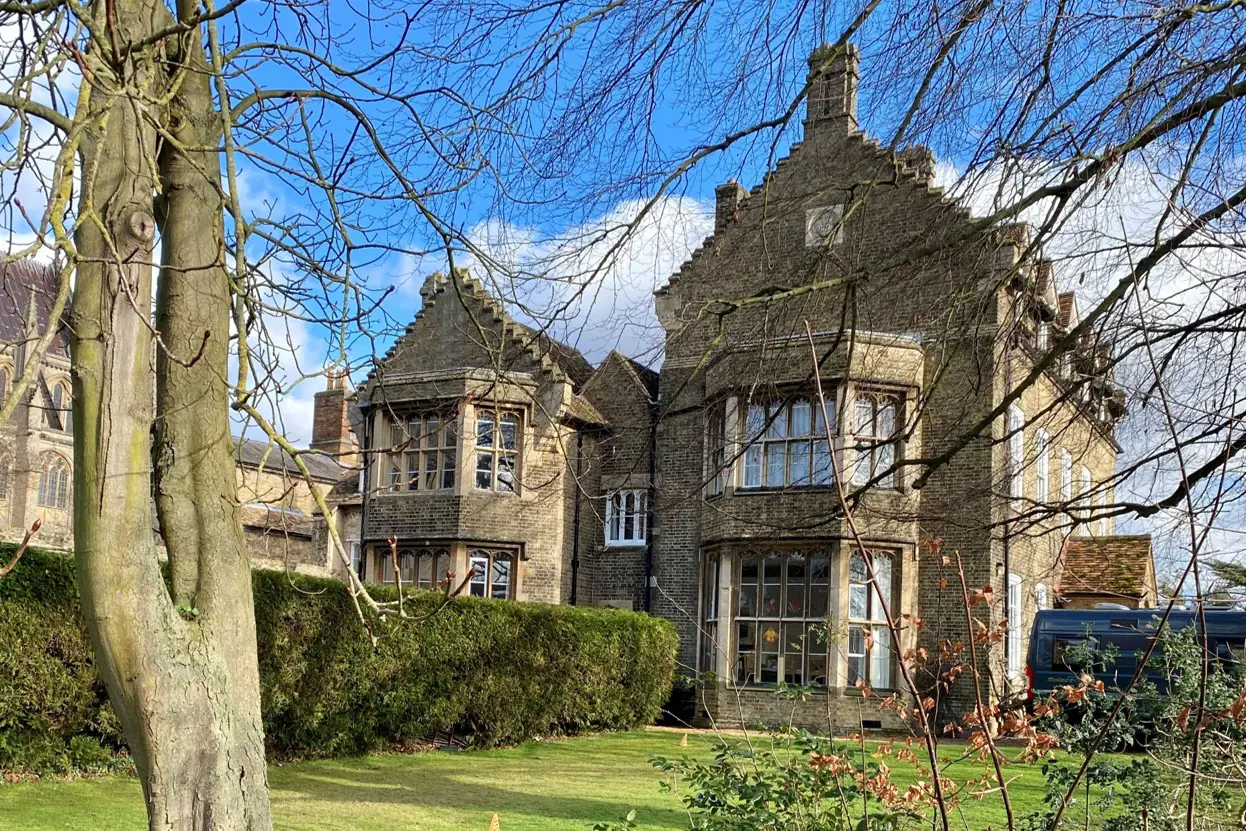
[[[257, 571], [253, 586], [274, 757], [447, 730], [487, 745], [633, 728], [657, 716], [674, 673], [673, 628], [643, 614], [468, 597], [422, 623], [376, 625], [374, 648], [341, 583]], [[407, 609], [436, 604], [419, 592]], [[101, 767], [121, 746], [74, 562], [30, 551], [0, 581], [0, 770]]]

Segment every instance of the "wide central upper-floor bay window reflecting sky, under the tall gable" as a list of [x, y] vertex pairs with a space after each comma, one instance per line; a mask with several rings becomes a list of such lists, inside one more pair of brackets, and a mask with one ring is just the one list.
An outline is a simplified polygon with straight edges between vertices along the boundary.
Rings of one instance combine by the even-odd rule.
[[822, 407], [816, 400], [749, 404], [741, 487], [812, 487], [834, 483]]

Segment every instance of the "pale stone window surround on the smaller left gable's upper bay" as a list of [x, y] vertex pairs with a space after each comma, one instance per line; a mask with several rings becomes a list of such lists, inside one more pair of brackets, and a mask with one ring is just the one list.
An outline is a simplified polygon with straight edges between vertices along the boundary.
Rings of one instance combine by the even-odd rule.
[[[520, 416], [518, 461], [516, 466], [516, 477], [520, 487], [513, 493], [507, 491], [485, 491], [476, 487], [477, 409], [502, 410], [506, 412], [515, 412]], [[421, 415], [434, 410], [447, 414], [455, 412], [454, 424], [457, 431], [457, 442], [455, 446], [456, 461], [454, 487], [417, 491], [390, 488], [386, 473], [389, 453], [385, 452], [385, 446], [379, 446], [374, 447], [375, 452], [370, 453], [373, 458], [368, 462], [366, 498], [436, 498], [446, 496], [502, 496], [506, 498], [515, 498], [525, 496], [523, 470], [527, 463], [528, 453], [533, 452], [538, 444], [538, 439], [535, 436], [535, 430], [537, 430], [537, 427], [533, 424], [531, 401], [498, 400], [495, 402], [492, 400], [477, 400], [473, 402], [471, 400], [464, 401], [462, 399], [424, 399], [409, 402], [395, 402], [388, 406], [378, 406], [370, 415], [370, 417], [374, 419], [370, 430], [373, 436], [371, 441], [374, 445], [380, 445], [381, 442], [388, 445], [386, 439], [390, 435], [392, 416], [406, 419], [409, 415]], [[364, 487], [363, 482], [360, 486]]]

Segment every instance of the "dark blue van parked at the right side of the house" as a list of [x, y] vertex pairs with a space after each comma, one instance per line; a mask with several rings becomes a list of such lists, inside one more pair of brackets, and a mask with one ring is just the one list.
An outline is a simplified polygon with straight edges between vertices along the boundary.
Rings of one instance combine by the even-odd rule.
[[[1089, 668], [1078, 665], [1087, 642], [1094, 649], [1115, 647], [1116, 658], [1094, 677], [1109, 690], [1126, 686], [1138, 662], [1159, 630], [1163, 609], [1040, 609], [1034, 615], [1025, 657], [1029, 700], [1043, 700], [1067, 684], [1078, 684]], [[1207, 645], [1216, 660], [1246, 660], [1246, 612], [1207, 610]], [[1192, 627], [1196, 613], [1172, 609], [1169, 628]], [[1159, 648], [1146, 664], [1145, 680], [1160, 690], [1166, 685]]]

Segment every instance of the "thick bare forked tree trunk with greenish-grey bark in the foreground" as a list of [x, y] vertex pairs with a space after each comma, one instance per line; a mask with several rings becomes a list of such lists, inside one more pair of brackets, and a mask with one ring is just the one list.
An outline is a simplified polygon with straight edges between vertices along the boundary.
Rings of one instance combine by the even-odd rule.
[[[117, 83], [83, 83], [78, 101], [92, 116], [82, 152], [72, 326], [83, 612], [142, 779], [150, 827], [267, 831], [250, 569], [227, 407], [229, 287], [218, 162], [211, 152], [196, 157], [174, 148], [183, 140], [202, 147], [196, 135], [214, 147], [212, 131], [202, 132], [212, 98], [194, 72], [179, 72], [176, 62], [166, 67], [164, 49], [153, 55], [117, 45], [172, 22], [158, 0], [113, 2], [107, 15], [112, 37], [95, 45]], [[193, 37], [182, 42], [193, 51]], [[152, 91], [169, 81], [167, 107], [145, 103], [158, 95], [110, 97], [112, 88]], [[176, 141], [157, 125], [168, 125]], [[162, 193], [164, 252], [161, 340], [173, 358], [157, 354], [147, 319], [155, 193]], [[157, 412], [172, 596], [151, 527]]]

